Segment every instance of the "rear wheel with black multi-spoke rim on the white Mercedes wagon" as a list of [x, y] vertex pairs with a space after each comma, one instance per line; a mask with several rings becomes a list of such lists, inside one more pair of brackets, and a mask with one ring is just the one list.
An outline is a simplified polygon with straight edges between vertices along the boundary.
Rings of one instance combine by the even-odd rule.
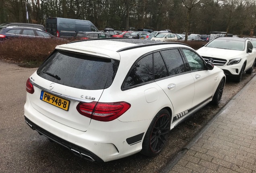
[[157, 113], [142, 142], [140, 153], [148, 157], [158, 155], [166, 144], [171, 127], [171, 117], [166, 109]]

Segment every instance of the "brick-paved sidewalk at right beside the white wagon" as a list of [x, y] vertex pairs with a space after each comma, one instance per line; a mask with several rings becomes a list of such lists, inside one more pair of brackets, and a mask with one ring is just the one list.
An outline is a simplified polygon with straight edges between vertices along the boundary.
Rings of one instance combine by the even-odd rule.
[[169, 173], [256, 173], [256, 76], [198, 136]]

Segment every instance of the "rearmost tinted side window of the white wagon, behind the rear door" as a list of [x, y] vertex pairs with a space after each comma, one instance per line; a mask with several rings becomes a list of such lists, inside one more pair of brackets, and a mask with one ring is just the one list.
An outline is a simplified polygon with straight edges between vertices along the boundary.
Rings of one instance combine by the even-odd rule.
[[124, 83], [124, 88], [132, 87], [153, 80], [152, 54], [140, 59], [130, 70], [130, 74]]

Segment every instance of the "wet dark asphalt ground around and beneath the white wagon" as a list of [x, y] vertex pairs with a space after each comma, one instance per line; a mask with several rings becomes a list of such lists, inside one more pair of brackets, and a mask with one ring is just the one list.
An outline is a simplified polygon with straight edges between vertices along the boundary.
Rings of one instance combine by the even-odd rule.
[[92, 163], [51, 143], [26, 125], [23, 106], [25, 83], [37, 68], [23, 68], [0, 61], [0, 172], [1, 173], [161, 173], [173, 157], [256, 74], [244, 74], [242, 82], [227, 80], [219, 106], [207, 105], [170, 131], [163, 152], [154, 158], [139, 153], [107, 163]]

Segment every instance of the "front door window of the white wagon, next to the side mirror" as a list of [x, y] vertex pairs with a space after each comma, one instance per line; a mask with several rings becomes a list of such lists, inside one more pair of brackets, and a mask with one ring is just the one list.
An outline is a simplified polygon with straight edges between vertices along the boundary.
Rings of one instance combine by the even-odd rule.
[[202, 58], [200, 58], [200, 56], [198, 56], [198, 54], [196, 54], [195, 52], [188, 50], [188, 49], [182, 49], [182, 51], [184, 52], [184, 54], [188, 60], [188, 64], [189, 64], [191, 70], [204, 69], [204, 60], [202, 60]]

